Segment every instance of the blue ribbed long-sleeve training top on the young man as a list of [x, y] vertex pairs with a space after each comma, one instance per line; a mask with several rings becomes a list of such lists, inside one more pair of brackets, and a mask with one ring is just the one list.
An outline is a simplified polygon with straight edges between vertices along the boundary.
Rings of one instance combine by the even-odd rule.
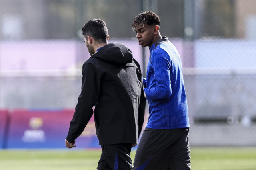
[[167, 37], [156, 41], [150, 48], [144, 91], [150, 114], [146, 127], [152, 129], [189, 127], [180, 55]]

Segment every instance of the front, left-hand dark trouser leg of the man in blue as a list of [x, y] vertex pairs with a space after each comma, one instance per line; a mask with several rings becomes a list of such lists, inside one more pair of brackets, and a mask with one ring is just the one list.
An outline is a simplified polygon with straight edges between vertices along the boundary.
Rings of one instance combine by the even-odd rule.
[[[146, 128], [136, 151], [133, 170], [167, 170], [172, 158], [184, 147], [188, 131], [188, 128]], [[188, 154], [188, 150], [180, 150], [179, 153], [182, 154], [182, 151]]]

